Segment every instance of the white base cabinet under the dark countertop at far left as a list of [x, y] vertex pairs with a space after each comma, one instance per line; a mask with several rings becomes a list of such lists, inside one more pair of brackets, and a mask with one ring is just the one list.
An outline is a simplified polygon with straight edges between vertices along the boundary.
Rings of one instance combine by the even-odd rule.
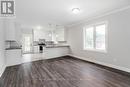
[[12, 66], [22, 63], [21, 49], [6, 50], [6, 65]]

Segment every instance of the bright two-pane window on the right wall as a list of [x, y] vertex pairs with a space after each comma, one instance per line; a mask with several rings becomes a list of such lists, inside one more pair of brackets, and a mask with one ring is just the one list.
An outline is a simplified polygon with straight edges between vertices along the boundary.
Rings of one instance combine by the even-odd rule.
[[84, 49], [106, 51], [106, 23], [84, 28]]

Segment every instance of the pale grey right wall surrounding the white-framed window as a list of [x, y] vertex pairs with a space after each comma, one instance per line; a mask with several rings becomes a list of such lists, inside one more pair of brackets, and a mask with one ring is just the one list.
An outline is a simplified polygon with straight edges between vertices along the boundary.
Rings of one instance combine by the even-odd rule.
[[[83, 50], [83, 27], [102, 21], [108, 21], [108, 52]], [[130, 69], [130, 8], [69, 27], [68, 43], [75, 56]]]

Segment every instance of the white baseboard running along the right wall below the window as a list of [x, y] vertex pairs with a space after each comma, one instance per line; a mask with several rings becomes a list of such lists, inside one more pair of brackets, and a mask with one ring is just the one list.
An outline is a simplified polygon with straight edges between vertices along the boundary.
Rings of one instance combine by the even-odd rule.
[[78, 58], [78, 59], [81, 59], [81, 60], [85, 60], [85, 61], [93, 62], [93, 63], [99, 64], [99, 65], [103, 65], [103, 66], [111, 67], [111, 68], [114, 68], [114, 69], [117, 69], [117, 70], [121, 70], [121, 71], [124, 71], [124, 72], [130, 73], [130, 69], [129, 69], [129, 68], [120, 67], [120, 66], [113, 65], [113, 64], [108, 64], [108, 63], [104, 63], [104, 62], [100, 62], [100, 61], [92, 60], [92, 59], [89, 59], [89, 58], [79, 57], [79, 56], [75, 56], [75, 55], [72, 55], [72, 54], [68, 54], [68, 56], [72, 56], [72, 57], [75, 57], [75, 58]]

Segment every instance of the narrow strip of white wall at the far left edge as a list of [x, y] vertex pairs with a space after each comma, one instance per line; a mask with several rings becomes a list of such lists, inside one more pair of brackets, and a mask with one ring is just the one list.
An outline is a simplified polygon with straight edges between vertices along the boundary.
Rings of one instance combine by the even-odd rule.
[[4, 22], [0, 20], [0, 77], [5, 69], [5, 29]]

